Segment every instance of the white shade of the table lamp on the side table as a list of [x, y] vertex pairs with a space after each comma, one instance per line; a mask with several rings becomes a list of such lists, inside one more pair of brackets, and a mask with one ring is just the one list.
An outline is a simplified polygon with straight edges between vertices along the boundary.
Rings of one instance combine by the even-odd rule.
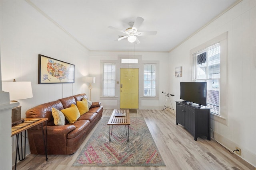
[[2, 90], [10, 93], [10, 100], [33, 97], [31, 82], [2, 82]]

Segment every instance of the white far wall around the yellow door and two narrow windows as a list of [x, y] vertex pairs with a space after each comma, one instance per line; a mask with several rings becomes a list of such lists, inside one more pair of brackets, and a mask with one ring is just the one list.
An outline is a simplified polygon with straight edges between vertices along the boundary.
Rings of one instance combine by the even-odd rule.
[[[120, 60], [118, 59], [118, 55], [128, 55], [128, 51], [126, 52], [98, 52], [98, 51], [92, 51], [90, 53], [90, 74], [91, 76], [96, 76], [96, 81], [100, 81], [101, 78], [101, 70], [100, 70], [100, 61], [116, 61], [120, 63]], [[142, 62], [145, 61], [158, 61], [159, 62], [159, 77], [157, 77], [157, 81], [159, 81], [158, 84], [158, 94], [157, 98], [145, 98], [142, 95], [139, 95], [139, 109], [162, 109], [166, 100], [166, 97], [164, 94], [162, 94], [162, 91], [168, 92], [169, 90], [169, 82], [168, 79], [170, 77], [169, 72], [169, 64], [168, 64], [168, 53], [159, 53], [159, 52], [136, 52], [134, 53], [135, 56], [141, 56], [141, 63], [140, 69], [144, 69], [144, 65]], [[133, 56], [133, 54], [132, 54]], [[119, 64], [120, 65], [120, 64]], [[118, 72], [120, 70], [120, 67], [117, 66], [116, 71]], [[171, 73], [171, 74], [174, 74]], [[140, 79], [143, 78], [143, 75], [140, 75]], [[120, 81], [120, 74], [116, 74], [116, 81]], [[119, 103], [120, 103], [120, 87], [118, 84], [116, 84], [116, 97], [115, 98], [106, 98], [102, 97], [102, 94], [100, 94], [100, 84], [92, 85], [92, 100], [101, 101], [104, 108], [108, 109], [119, 109]], [[139, 86], [139, 91], [143, 90], [143, 81], [141, 82]], [[172, 92], [168, 92], [172, 93]], [[170, 102], [168, 103], [168, 106], [171, 107]]]

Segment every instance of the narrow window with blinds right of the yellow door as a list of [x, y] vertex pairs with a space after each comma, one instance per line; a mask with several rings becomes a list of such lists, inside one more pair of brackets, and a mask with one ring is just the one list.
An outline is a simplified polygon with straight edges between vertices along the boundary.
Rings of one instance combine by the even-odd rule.
[[144, 96], [156, 96], [156, 64], [144, 64]]

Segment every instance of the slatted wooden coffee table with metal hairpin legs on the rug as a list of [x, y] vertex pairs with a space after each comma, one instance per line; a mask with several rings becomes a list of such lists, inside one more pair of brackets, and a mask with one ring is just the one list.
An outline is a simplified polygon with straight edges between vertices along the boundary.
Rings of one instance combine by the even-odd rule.
[[[125, 113], [125, 116], [115, 116], [115, 113]], [[129, 141], [129, 125], [130, 125], [130, 115], [128, 109], [114, 109], [112, 112], [112, 115], [108, 121], [109, 125], [109, 141], [111, 142], [112, 137], [112, 129], [113, 125], [125, 125], [125, 131], [126, 131], [126, 139]], [[110, 133], [110, 125], [112, 125], [111, 133]], [[127, 129], [126, 125], [128, 125], [128, 135], [127, 135]]]

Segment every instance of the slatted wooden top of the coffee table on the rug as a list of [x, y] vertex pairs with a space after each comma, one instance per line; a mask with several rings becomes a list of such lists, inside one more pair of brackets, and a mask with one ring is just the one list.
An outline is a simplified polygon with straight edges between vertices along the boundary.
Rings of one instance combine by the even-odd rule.
[[[125, 116], [115, 116], [115, 113], [126, 113]], [[130, 125], [130, 115], [128, 109], [114, 109], [108, 121], [108, 125]]]

